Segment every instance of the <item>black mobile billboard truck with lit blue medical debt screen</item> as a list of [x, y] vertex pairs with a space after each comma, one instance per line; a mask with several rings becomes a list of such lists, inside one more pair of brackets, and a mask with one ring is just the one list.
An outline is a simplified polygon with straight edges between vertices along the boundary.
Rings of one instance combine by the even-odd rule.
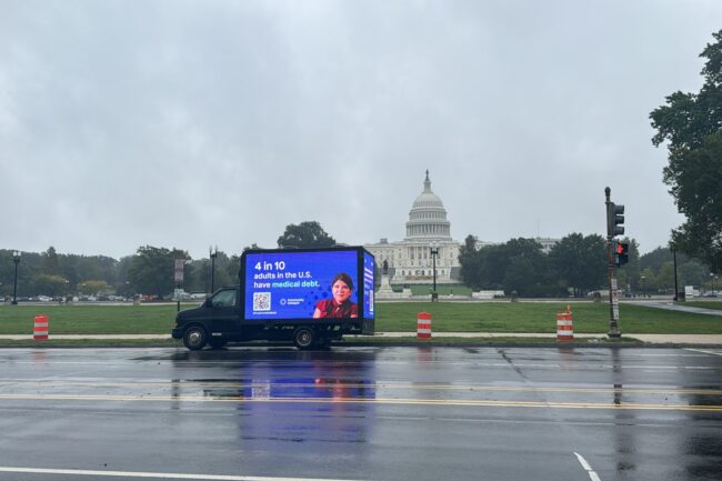
[[374, 260], [361, 247], [248, 250], [239, 281], [180, 311], [173, 339], [190, 350], [257, 340], [312, 349], [373, 335]]

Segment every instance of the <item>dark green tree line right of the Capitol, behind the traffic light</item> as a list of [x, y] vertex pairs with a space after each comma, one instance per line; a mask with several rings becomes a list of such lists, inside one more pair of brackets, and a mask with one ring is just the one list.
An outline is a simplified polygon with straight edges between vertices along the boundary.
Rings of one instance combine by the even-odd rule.
[[[629, 295], [674, 292], [674, 263], [670, 249], [658, 248], [640, 257], [639, 243], [629, 242], [629, 263], [618, 269], [618, 282]], [[706, 287], [710, 270], [683, 253], [676, 254], [678, 283]], [[520, 297], [583, 297], [609, 289], [606, 240], [599, 234], [571, 233], [549, 252], [533, 239], [511, 239], [475, 248], [467, 237], [460, 249], [461, 278], [473, 290], [503, 290]]]

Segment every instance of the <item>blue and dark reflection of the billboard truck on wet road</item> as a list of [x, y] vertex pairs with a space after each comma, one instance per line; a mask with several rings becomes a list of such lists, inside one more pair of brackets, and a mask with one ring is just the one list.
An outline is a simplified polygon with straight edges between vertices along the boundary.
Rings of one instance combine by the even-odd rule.
[[209, 373], [176, 384], [194, 383], [207, 399], [238, 401], [230, 405], [241, 443], [364, 443], [373, 429], [368, 420], [373, 403], [359, 402], [377, 397], [372, 352], [227, 350], [188, 352], [174, 360]]

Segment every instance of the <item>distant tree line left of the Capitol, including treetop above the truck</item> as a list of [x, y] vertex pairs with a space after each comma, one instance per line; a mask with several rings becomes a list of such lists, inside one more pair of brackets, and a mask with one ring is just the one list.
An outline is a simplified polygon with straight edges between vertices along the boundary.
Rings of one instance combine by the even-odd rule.
[[[289, 224], [278, 238], [278, 247], [331, 247], [335, 240], [317, 221]], [[258, 249], [253, 243], [247, 249]], [[14, 262], [12, 250], [0, 249], [0, 298], [13, 294]], [[193, 260], [188, 251], [153, 245], [139, 247], [133, 255], [116, 260], [106, 255], [58, 253], [53, 247], [44, 252], [21, 252], [18, 265], [18, 295], [53, 298], [84, 295], [146, 294], [168, 297], [177, 284], [176, 261], [183, 260], [185, 292], [211, 291], [211, 259]], [[238, 283], [240, 254], [218, 251], [214, 260], [213, 287]]]

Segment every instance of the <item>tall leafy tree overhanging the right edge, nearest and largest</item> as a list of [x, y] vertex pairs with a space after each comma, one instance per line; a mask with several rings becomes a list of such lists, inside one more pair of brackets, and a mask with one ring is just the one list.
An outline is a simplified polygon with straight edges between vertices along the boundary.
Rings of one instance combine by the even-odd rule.
[[686, 221], [672, 231], [672, 245], [722, 269], [722, 30], [700, 57], [704, 84], [698, 93], [676, 91], [650, 113], [659, 147], [668, 141], [664, 182]]

